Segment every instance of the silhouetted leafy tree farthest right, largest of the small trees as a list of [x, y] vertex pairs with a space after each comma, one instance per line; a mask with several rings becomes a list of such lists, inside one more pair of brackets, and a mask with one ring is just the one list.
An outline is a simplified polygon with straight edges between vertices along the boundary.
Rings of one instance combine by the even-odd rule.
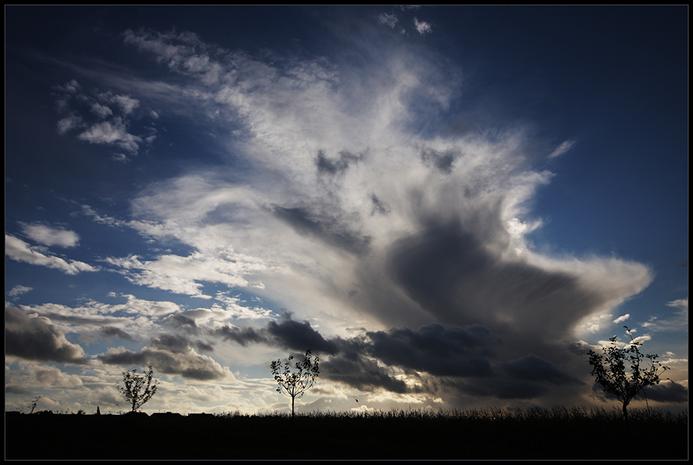
[[[663, 367], [657, 361], [657, 355], [642, 355], [639, 346], [631, 335], [631, 329], [624, 326], [631, 337], [628, 348], [620, 348], [616, 344], [617, 336], [609, 338], [611, 346], [602, 347], [603, 355], [595, 351], [589, 351], [591, 374], [596, 377], [596, 382], [602, 385], [604, 392], [613, 394], [623, 405], [623, 419], [628, 419], [628, 404], [645, 387], [659, 384], [659, 375], [667, 371], [669, 367]], [[645, 358], [650, 360], [647, 369], [641, 369], [640, 362]], [[626, 363], [630, 365], [630, 372], [626, 370]], [[661, 371], [660, 371], [661, 369]]]

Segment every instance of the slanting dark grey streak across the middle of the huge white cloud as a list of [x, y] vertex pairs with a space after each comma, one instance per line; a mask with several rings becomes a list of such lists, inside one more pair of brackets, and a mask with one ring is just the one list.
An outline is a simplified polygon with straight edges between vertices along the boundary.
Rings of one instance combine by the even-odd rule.
[[351, 231], [337, 218], [318, 215], [304, 207], [279, 207], [274, 205], [272, 213], [287, 222], [299, 234], [321, 240], [352, 254], [365, 254], [370, 249], [371, 238]]

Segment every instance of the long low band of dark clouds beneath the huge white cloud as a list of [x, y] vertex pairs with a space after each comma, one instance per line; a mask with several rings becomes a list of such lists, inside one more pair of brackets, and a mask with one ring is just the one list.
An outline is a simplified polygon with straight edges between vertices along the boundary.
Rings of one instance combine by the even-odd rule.
[[[321, 358], [322, 376], [361, 391], [435, 393], [444, 388], [467, 395], [536, 398], [549, 393], [552, 385], [581, 384], [532, 354], [494, 365], [502, 340], [479, 324], [464, 328], [428, 324], [415, 331], [391, 328], [351, 339], [326, 339], [309, 322], [287, 315], [266, 328], [220, 328], [213, 335], [242, 345], [310, 349]], [[413, 376], [416, 383], [407, 385], [395, 372]]]

